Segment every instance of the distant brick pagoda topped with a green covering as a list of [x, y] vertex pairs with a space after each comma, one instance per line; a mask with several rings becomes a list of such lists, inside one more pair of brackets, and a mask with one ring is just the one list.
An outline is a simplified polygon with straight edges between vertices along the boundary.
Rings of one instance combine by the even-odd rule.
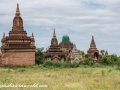
[[62, 42], [59, 43], [60, 48], [65, 52], [65, 56], [68, 56], [68, 54], [73, 49], [73, 43], [70, 42], [70, 38], [68, 35], [64, 35], [62, 37]]

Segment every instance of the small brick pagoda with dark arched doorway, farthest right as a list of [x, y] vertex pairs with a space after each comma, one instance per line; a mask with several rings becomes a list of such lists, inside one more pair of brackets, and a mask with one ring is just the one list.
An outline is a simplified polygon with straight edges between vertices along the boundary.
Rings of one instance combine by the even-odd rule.
[[92, 36], [90, 48], [87, 51], [86, 57], [91, 57], [95, 62], [100, 62], [102, 56], [99, 54], [99, 51], [96, 48], [96, 44], [94, 42], [94, 37]]

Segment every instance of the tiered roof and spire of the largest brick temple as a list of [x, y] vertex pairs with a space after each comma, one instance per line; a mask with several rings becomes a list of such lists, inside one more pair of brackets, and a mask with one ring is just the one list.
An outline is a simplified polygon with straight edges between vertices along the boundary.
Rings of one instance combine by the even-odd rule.
[[5, 52], [6, 50], [35, 49], [34, 35], [32, 33], [32, 36], [27, 36], [27, 32], [23, 28], [23, 20], [20, 16], [18, 4], [15, 17], [13, 19], [12, 30], [9, 31], [9, 36], [5, 36], [5, 33], [3, 34], [1, 42], [2, 52]]

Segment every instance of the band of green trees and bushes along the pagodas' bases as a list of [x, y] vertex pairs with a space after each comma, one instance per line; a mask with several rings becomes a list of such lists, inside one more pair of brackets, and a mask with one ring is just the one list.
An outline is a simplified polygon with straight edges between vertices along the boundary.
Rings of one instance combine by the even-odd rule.
[[68, 61], [68, 57], [66, 57], [65, 62], [52, 62], [44, 60], [43, 51], [44, 48], [37, 48], [35, 53], [35, 62], [36, 64], [43, 64], [44, 67], [80, 67], [80, 66], [98, 66], [98, 65], [110, 65], [117, 66], [117, 69], [120, 70], [120, 57], [116, 55], [107, 55], [102, 56], [101, 63], [95, 63], [92, 58], [85, 58], [85, 53], [83, 51], [78, 50], [78, 52], [82, 55], [82, 60], [79, 63], [71, 63]]

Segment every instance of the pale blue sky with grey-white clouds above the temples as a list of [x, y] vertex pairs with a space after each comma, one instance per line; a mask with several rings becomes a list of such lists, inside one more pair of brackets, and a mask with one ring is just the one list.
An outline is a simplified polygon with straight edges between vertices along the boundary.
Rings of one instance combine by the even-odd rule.
[[120, 56], [120, 0], [0, 0], [0, 38], [12, 29], [17, 3], [36, 47], [46, 50], [55, 28], [58, 42], [68, 35], [87, 53], [93, 35], [98, 50]]

